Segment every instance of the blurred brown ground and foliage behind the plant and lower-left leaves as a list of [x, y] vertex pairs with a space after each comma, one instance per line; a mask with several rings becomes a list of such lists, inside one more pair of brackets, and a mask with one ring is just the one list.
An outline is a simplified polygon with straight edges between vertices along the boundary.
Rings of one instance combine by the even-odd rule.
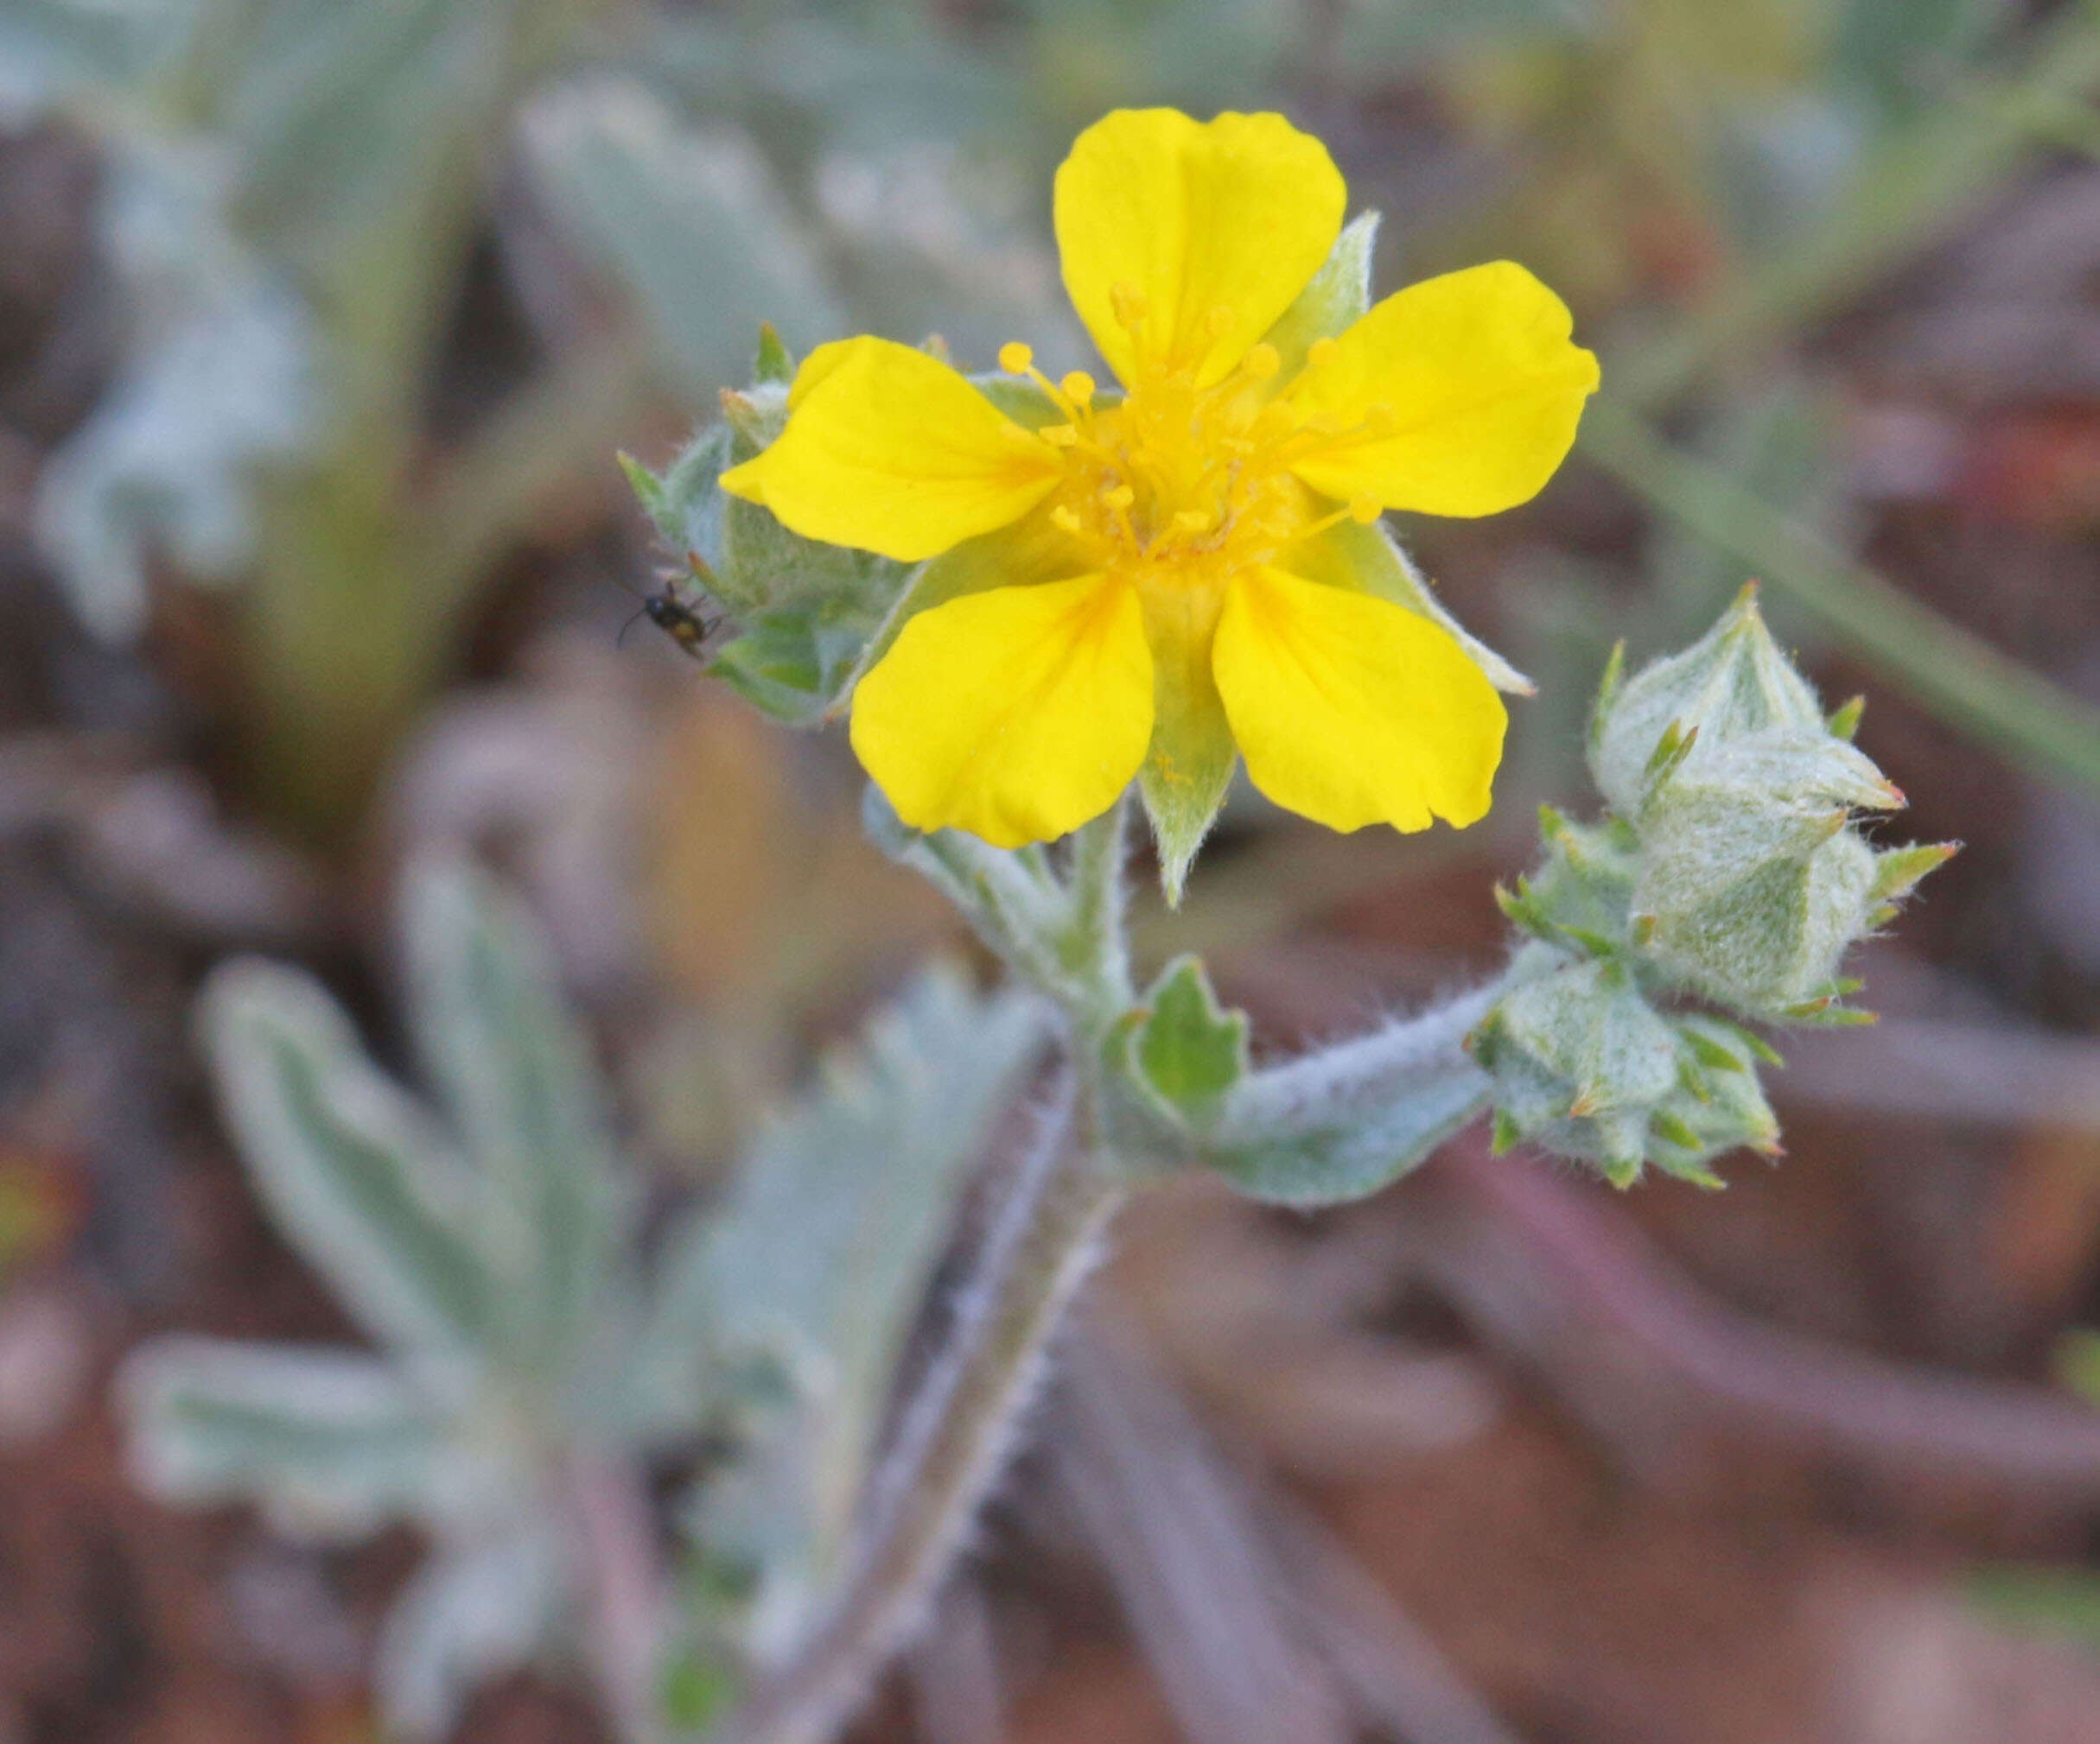
[[[840, 735], [628, 628], [613, 455], [760, 321], [1082, 361], [1050, 172], [1132, 103], [1283, 109], [1382, 292], [1512, 256], [1604, 361], [1544, 497], [1403, 527], [1539, 684], [1493, 818], [1235, 800], [1149, 963], [1264, 1045], [1489, 970], [1611, 644], [1751, 575], [1968, 852], [1724, 1194], [1462, 1142], [1312, 1219], [1147, 1198], [859, 1736], [2100, 1740], [2096, 97], [2100, 6], [2018, 0], [0, 0], [0, 1742], [378, 1738], [416, 1532], [151, 1503], [109, 1404], [168, 1328], [349, 1337], [212, 961], [405, 1070], [397, 869], [472, 848], [672, 1200], [966, 953]], [[559, 1673], [452, 1719], [611, 1736]]]

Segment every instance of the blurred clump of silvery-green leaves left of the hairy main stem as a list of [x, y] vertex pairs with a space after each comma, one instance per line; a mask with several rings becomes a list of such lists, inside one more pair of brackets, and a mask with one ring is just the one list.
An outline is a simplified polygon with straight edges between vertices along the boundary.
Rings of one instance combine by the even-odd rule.
[[422, 1528], [376, 1664], [401, 1738], [447, 1736], [479, 1683], [588, 1637], [603, 1486], [640, 1505], [645, 1477], [685, 1473], [682, 1639], [651, 1618], [643, 1645], [674, 1706], [718, 1700], [836, 1582], [905, 1339], [1046, 1007], [920, 974], [645, 1247], [643, 1177], [525, 911], [449, 860], [412, 873], [403, 909], [441, 1112], [298, 970], [227, 963], [200, 1007], [256, 1194], [372, 1349], [149, 1339], [120, 1381], [132, 1467], [298, 1538]]

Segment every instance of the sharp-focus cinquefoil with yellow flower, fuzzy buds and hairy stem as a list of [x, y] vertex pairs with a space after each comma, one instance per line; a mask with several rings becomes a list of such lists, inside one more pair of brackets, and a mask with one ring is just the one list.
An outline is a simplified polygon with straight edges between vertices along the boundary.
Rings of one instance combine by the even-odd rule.
[[[1275, 115], [1124, 111], [1056, 178], [1065, 285], [1119, 386], [1025, 344], [766, 334], [643, 506], [731, 623], [769, 714], [850, 714], [874, 839], [1060, 1014], [1067, 1089], [945, 1320], [790, 1658], [727, 1723], [823, 1740], [909, 1637], [1000, 1471], [1124, 1194], [1189, 1167], [1298, 1207], [1394, 1182], [1466, 1123], [1630, 1186], [1772, 1150], [1747, 1024], [1848, 1022], [1848, 947], [1951, 848], [1875, 850], [1900, 793], [1825, 718], [1745, 592], [1695, 648], [1606, 678], [1609, 810], [1546, 818], [1506, 972], [1256, 1064], [1195, 959], [1140, 988], [1130, 793], [1178, 900], [1237, 766], [1334, 829], [1466, 825], [1527, 688], [1436, 604], [1384, 510], [1487, 514], [1567, 453], [1590, 353], [1508, 262], [1369, 294], [1323, 147]], [[1065, 837], [1065, 846], [1050, 846]]]

